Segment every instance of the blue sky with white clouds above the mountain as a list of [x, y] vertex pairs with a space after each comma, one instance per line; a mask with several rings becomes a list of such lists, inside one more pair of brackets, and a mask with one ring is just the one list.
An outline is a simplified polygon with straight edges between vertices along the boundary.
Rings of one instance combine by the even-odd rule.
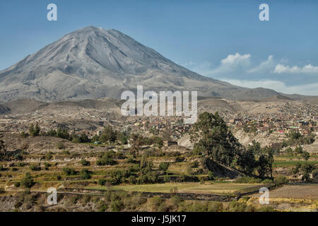
[[[58, 20], [47, 20], [57, 4]], [[259, 5], [269, 5], [269, 21]], [[318, 1], [11, 0], [0, 3], [0, 70], [66, 33], [114, 28], [204, 76], [318, 95]]]

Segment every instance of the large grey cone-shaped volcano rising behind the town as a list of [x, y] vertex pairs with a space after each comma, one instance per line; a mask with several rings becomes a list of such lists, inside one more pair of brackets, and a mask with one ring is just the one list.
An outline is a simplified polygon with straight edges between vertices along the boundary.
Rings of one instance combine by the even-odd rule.
[[88, 26], [0, 71], [0, 101], [119, 98], [137, 85], [156, 92], [197, 90], [201, 96], [232, 100], [282, 95], [201, 76], [118, 30]]

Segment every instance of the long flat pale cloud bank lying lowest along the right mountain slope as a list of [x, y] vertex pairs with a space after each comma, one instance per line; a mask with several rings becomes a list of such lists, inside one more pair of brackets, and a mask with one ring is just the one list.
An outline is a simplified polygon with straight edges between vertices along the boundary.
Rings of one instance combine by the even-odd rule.
[[260, 80], [260, 81], [247, 81], [237, 79], [222, 79], [222, 81], [239, 85], [247, 88], [269, 88], [277, 92], [286, 94], [302, 94], [302, 95], [318, 95], [318, 83], [310, 83], [305, 85], [291, 85], [287, 86], [281, 81], [273, 80]]

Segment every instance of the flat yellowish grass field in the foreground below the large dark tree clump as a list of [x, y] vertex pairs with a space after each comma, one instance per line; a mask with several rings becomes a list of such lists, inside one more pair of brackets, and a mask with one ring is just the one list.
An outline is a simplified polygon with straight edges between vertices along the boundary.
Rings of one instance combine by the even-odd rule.
[[[165, 183], [165, 184], [142, 184], [142, 185], [119, 185], [112, 186], [113, 190], [139, 191], [139, 192], [160, 192], [170, 193], [170, 189], [175, 189], [179, 193], [193, 194], [233, 194], [235, 191], [250, 189], [259, 184], [234, 184], [234, 183], [214, 183], [206, 182], [205, 184], [184, 182], [184, 183]], [[107, 190], [105, 186], [94, 186], [86, 189]]]

